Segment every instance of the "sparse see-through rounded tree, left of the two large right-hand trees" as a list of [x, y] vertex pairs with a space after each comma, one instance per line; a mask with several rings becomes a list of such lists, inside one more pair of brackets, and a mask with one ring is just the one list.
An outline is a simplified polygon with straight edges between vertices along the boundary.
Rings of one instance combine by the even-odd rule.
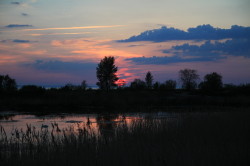
[[179, 71], [179, 78], [182, 83], [182, 88], [186, 90], [195, 89], [199, 75], [196, 70], [184, 69]]

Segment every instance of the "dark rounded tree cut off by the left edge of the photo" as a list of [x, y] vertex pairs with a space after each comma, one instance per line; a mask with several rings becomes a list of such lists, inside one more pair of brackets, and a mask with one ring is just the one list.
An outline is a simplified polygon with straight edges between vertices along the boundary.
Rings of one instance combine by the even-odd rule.
[[14, 91], [17, 89], [15, 79], [8, 75], [0, 75], [0, 91]]

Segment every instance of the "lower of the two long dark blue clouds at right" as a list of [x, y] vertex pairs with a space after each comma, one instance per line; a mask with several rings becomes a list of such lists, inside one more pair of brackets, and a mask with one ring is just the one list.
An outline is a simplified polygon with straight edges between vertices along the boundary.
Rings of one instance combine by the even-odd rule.
[[232, 39], [225, 42], [211, 42], [206, 41], [204, 44], [190, 45], [188, 43], [183, 45], [173, 46], [172, 49], [163, 50], [163, 53], [172, 53], [171, 57], [137, 57], [128, 58], [139, 65], [154, 64], [163, 65], [180, 62], [208, 62], [217, 61], [231, 56], [244, 56], [250, 58], [250, 39]]

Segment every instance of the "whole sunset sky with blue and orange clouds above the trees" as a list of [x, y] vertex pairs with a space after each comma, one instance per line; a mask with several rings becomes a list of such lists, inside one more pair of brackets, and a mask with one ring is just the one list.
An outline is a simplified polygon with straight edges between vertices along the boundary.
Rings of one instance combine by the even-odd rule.
[[249, 0], [0, 0], [0, 75], [18, 85], [94, 86], [114, 56], [129, 83], [217, 72], [250, 83]]

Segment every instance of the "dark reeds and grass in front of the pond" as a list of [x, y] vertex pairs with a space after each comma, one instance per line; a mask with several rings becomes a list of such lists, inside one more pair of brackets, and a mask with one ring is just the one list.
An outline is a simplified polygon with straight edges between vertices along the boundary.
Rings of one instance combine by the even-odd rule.
[[[1, 165], [249, 165], [249, 112], [179, 114], [68, 130], [0, 131]], [[100, 125], [100, 124], [99, 124]], [[105, 125], [113, 127], [105, 128]], [[55, 126], [56, 128], [56, 126]]]

